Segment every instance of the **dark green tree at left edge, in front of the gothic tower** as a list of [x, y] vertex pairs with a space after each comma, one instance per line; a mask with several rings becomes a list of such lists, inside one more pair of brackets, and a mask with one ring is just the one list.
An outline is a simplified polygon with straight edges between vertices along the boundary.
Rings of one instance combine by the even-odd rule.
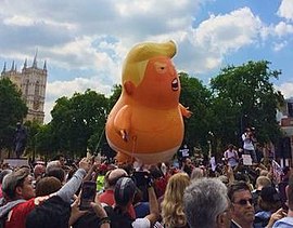
[[13, 148], [14, 132], [17, 122], [27, 113], [22, 93], [10, 79], [0, 79], [0, 150]]

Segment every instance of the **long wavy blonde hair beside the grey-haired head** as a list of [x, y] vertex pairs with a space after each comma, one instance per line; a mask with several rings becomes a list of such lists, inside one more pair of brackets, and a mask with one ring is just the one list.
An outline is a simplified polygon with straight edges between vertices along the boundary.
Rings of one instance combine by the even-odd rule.
[[169, 178], [162, 202], [162, 217], [165, 227], [187, 225], [183, 212], [183, 193], [189, 184], [190, 178], [186, 173], [177, 173]]

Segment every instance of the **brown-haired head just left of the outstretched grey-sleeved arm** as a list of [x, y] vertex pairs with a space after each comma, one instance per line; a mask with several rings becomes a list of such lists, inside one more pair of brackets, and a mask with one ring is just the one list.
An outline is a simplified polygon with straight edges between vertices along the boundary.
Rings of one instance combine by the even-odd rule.
[[53, 176], [47, 176], [37, 182], [36, 197], [44, 197], [61, 189], [62, 183]]

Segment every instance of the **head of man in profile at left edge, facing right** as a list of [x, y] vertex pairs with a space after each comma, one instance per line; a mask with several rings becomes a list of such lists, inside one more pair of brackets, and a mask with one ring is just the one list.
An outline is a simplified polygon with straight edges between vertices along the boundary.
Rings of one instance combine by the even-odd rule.
[[31, 199], [35, 197], [33, 177], [28, 169], [20, 169], [4, 176], [2, 191], [9, 201], [17, 199]]

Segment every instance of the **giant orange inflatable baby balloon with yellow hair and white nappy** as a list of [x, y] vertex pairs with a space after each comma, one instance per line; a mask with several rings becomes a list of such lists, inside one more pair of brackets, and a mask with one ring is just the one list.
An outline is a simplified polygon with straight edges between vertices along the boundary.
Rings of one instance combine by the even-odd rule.
[[183, 139], [180, 81], [171, 62], [176, 44], [145, 42], [128, 53], [122, 95], [106, 122], [106, 139], [117, 160], [144, 164], [169, 161]]

